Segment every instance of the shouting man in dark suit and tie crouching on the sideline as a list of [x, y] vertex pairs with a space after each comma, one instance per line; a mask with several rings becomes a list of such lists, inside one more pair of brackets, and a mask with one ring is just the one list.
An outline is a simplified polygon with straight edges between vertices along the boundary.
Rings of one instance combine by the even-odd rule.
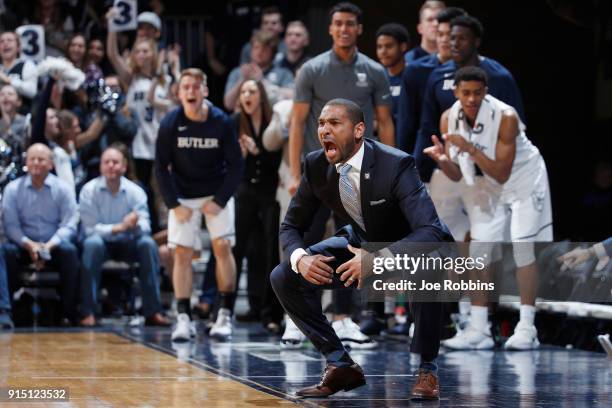
[[[413, 242], [452, 241], [419, 180], [414, 159], [364, 139], [364, 131], [363, 111], [354, 102], [333, 99], [324, 106], [318, 126], [323, 149], [305, 158], [298, 191], [280, 229], [290, 261], [272, 271], [272, 287], [291, 319], [327, 360], [321, 382], [299, 390], [302, 397], [327, 397], [365, 384], [363, 370], [342, 346], [317, 295], [319, 289], [363, 285], [361, 263], [369, 254], [362, 244], [393, 242], [399, 249]], [[349, 225], [305, 249], [302, 236], [320, 205]], [[411, 351], [421, 355], [411, 395], [437, 399], [441, 304], [414, 303], [411, 309]]]

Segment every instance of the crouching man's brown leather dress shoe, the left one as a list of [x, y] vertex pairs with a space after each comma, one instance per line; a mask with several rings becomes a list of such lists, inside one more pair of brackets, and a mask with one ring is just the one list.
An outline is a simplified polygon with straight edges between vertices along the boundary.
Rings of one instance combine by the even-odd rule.
[[305, 398], [323, 398], [338, 391], [350, 391], [362, 385], [365, 385], [365, 375], [358, 364], [348, 367], [334, 367], [328, 364], [321, 377], [321, 382], [298, 390], [296, 395]]

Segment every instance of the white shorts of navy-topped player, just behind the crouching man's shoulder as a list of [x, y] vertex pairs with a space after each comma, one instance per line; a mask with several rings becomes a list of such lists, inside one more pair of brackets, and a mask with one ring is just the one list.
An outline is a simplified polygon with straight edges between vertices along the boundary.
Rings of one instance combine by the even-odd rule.
[[465, 235], [470, 230], [470, 222], [463, 201], [467, 188], [469, 186], [465, 184], [463, 178], [455, 182], [440, 169], [434, 170], [427, 185], [438, 217], [444, 221], [458, 242], [463, 242]]

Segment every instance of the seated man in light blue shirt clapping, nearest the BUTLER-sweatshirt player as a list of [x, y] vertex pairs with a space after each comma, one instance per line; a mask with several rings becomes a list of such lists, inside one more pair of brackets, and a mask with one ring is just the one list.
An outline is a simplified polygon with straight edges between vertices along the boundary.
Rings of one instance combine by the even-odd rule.
[[100, 177], [88, 182], [80, 194], [83, 242], [82, 326], [95, 324], [95, 309], [107, 259], [138, 261], [145, 324], [169, 326], [159, 295], [159, 257], [151, 238], [147, 195], [126, 179], [127, 157], [114, 146], [102, 153]]

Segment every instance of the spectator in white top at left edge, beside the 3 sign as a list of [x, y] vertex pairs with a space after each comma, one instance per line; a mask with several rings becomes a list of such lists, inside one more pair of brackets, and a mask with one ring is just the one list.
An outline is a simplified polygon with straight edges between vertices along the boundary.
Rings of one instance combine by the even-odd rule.
[[30, 111], [36, 95], [38, 73], [32, 61], [19, 58], [19, 37], [13, 31], [0, 34], [0, 84], [11, 84], [21, 96], [21, 112]]

